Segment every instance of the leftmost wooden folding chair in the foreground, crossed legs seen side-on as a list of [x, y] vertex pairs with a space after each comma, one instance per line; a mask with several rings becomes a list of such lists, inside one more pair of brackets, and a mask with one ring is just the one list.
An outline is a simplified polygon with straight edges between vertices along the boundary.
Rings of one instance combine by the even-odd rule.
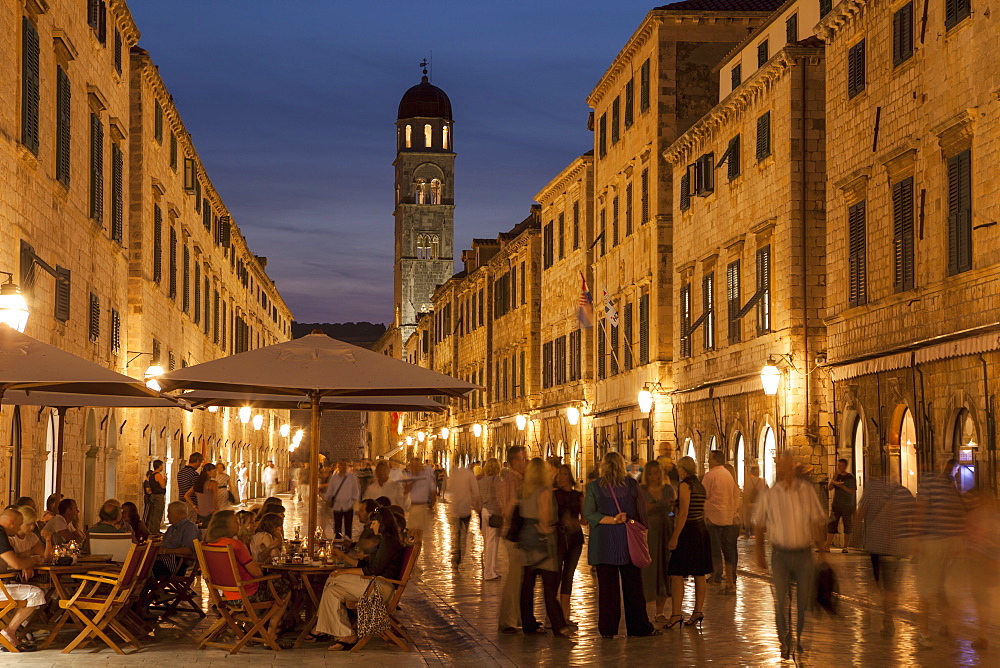
[[[129, 548], [125, 562], [120, 572], [91, 571], [86, 575], [73, 575], [73, 579], [82, 580], [76, 593], [67, 600], [59, 601], [59, 607], [68, 610], [83, 626], [80, 633], [63, 649], [63, 654], [69, 654], [77, 647], [100, 638], [117, 654], [124, 654], [121, 647], [111, 639], [107, 631], [114, 631], [125, 643], [139, 649], [141, 645], [134, 635], [122, 624], [119, 614], [129, 604], [129, 600], [139, 582], [139, 573], [145, 556], [154, 549], [154, 543], [133, 544]], [[102, 585], [110, 589], [102, 592]], [[60, 623], [60, 627], [62, 624]], [[58, 633], [59, 628], [53, 630]]]

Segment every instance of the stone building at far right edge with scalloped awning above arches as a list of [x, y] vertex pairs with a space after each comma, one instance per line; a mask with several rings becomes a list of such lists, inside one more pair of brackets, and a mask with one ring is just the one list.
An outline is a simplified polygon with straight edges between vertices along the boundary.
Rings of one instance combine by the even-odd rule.
[[[946, 7], [948, 9], [946, 9]], [[996, 492], [1000, 27], [968, 2], [842, 2], [827, 52], [827, 328], [841, 454]]]

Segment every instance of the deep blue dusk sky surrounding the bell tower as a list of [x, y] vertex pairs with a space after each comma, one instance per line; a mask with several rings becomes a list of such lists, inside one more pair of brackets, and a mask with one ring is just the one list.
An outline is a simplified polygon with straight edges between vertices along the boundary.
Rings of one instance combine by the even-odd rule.
[[[660, 3], [662, 4], [662, 3]], [[131, 0], [208, 176], [300, 322], [392, 318], [396, 108], [433, 52], [456, 259], [592, 148], [585, 99], [653, 3]]]

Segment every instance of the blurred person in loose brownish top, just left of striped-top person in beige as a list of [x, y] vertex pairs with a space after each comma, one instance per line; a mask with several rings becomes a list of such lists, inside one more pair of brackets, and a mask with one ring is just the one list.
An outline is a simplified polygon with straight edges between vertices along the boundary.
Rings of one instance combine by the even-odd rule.
[[894, 618], [899, 597], [901, 560], [912, 551], [913, 494], [898, 482], [871, 478], [858, 507], [861, 547], [868, 552], [875, 585], [882, 596], [882, 635], [896, 632]]

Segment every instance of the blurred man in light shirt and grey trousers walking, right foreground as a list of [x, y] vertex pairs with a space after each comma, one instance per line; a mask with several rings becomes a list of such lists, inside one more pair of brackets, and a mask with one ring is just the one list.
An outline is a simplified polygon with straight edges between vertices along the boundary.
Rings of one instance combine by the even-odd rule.
[[[771, 570], [774, 579], [774, 611], [781, 643], [781, 658], [791, 659], [802, 652], [802, 631], [806, 610], [815, 600], [816, 567], [811, 546], [816, 543], [825, 560], [826, 513], [813, 485], [795, 473], [795, 461], [782, 452], [775, 464], [777, 480], [761, 495], [754, 515], [757, 532], [757, 565], [767, 570], [764, 544], [771, 542]], [[798, 619], [794, 639], [791, 625], [791, 585], [795, 582]]]

